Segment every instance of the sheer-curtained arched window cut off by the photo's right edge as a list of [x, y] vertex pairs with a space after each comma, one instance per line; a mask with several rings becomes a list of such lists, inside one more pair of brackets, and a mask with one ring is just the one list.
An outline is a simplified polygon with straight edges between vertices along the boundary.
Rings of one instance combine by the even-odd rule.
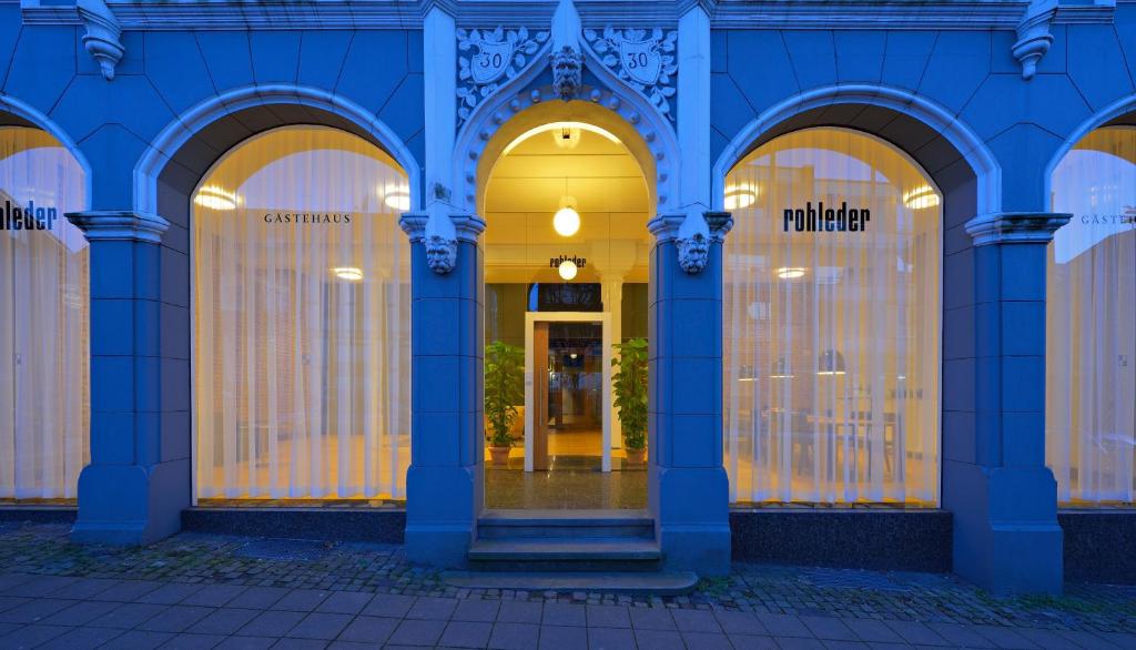
[[1052, 177], [1046, 460], [1062, 502], [1136, 501], [1136, 128], [1088, 134]]

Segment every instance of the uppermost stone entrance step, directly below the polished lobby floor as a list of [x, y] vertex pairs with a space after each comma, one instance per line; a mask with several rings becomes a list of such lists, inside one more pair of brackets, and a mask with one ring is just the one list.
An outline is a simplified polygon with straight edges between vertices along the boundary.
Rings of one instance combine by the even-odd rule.
[[642, 510], [560, 511], [513, 510], [488, 512], [477, 520], [477, 538], [503, 539], [654, 539], [654, 519]]

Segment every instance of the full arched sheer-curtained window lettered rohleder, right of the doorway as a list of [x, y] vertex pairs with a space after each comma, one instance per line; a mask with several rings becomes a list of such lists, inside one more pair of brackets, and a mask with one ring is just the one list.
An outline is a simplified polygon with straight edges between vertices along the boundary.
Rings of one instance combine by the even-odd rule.
[[[820, 202], [845, 208], [844, 230], [834, 211], [832, 232], [809, 231]], [[904, 155], [840, 128], [780, 136], [730, 172], [722, 385], [733, 501], [937, 502], [939, 203]], [[853, 209], [869, 215], [855, 231]]]

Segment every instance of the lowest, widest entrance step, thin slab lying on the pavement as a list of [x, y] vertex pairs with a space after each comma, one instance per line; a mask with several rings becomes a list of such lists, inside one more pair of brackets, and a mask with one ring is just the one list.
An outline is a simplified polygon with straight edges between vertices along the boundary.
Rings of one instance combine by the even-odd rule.
[[445, 572], [442, 580], [460, 589], [519, 591], [586, 591], [607, 593], [690, 593], [699, 583], [691, 572], [678, 573], [559, 573], [559, 572]]

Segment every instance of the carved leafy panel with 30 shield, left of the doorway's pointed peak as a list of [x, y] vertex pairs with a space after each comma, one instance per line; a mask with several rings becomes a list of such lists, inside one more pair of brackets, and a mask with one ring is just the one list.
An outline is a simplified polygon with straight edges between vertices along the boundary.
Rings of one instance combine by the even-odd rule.
[[528, 30], [458, 30], [458, 126], [477, 105], [493, 94], [502, 80], [511, 80], [525, 68], [529, 57], [549, 40], [548, 32], [531, 36]]

